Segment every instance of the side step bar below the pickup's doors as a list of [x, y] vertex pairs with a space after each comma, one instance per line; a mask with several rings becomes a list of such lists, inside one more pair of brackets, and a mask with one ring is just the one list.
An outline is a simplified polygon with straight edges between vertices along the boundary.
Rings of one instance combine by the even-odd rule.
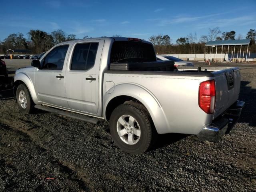
[[40, 110], [44, 110], [44, 111], [48, 111], [48, 112], [52, 112], [52, 113], [56, 113], [62, 116], [67, 116], [70, 118], [74, 118], [74, 119], [78, 119], [78, 120], [82, 120], [82, 121], [86, 121], [89, 123], [93, 123], [93, 124], [100, 124], [100, 120], [96, 119], [96, 118], [91, 118], [88, 117], [86, 115], [80, 115], [80, 114], [76, 114], [73, 112], [66, 112], [60, 109], [56, 109], [56, 108], [51, 108], [51, 107], [47, 107], [47, 106], [43, 106], [43, 105], [35, 105], [35, 108], [40, 109]]

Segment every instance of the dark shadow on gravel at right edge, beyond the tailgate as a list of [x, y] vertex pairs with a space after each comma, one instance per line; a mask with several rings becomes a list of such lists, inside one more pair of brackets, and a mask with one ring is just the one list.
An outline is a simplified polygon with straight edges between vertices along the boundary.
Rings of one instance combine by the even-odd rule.
[[248, 123], [256, 126], [256, 89], [253, 89], [249, 81], [241, 81], [239, 100], [245, 102], [242, 114], [238, 122]]

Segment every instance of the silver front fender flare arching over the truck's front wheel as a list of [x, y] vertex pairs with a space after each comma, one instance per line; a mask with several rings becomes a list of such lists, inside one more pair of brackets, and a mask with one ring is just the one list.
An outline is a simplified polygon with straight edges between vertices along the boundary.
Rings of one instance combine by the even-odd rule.
[[30, 77], [26, 73], [20, 72], [18, 74], [15, 74], [14, 84], [18, 80], [20, 80], [20, 81], [24, 82], [24, 84], [26, 84], [26, 86], [27, 86], [27, 88], [30, 92], [30, 95], [31, 95], [31, 98], [32, 98], [33, 102], [35, 104], [40, 104], [40, 102], [38, 100], [38, 97], [36, 95], [36, 90], [34, 88], [34, 84], [33, 84], [32, 80], [30, 79]]

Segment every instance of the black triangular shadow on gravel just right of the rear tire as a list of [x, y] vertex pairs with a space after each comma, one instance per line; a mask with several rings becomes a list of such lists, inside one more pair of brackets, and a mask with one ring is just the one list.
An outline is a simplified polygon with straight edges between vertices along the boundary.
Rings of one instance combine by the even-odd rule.
[[178, 134], [178, 133], [168, 133], [168, 134], [159, 134], [156, 144], [151, 150], [156, 150], [162, 147], [166, 147], [170, 144], [176, 143], [179, 140], [182, 140], [190, 135], [188, 134]]

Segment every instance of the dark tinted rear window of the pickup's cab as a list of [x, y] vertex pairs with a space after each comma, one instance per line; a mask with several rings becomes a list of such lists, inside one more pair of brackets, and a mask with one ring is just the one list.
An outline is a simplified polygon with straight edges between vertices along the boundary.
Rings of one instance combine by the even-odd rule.
[[152, 44], [134, 41], [115, 41], [112, 45], [112, 62], [152, 62], [156, 54]]

